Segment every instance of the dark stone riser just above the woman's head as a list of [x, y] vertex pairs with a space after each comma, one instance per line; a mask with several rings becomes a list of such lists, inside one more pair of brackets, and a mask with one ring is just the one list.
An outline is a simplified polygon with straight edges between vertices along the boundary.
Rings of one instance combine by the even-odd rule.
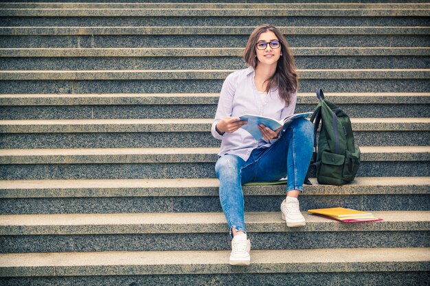
[[[0, 17], [0, 27], [190, 27], [190, 26], [251, 26], [257, 27], [267, 19], [259, 16], [8, 16]], [[409, 17], [359, 17], [359, 16], [271, 16], [272, 25], [282, 27], [426, 27], [429, 19], [420, 16]]]

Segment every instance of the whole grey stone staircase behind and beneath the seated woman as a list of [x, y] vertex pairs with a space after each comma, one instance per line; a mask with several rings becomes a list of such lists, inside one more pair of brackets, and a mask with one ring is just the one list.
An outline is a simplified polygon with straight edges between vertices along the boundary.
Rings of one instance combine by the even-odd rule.
[[[7, 2], [1, 285], [428, 285], [430, 3]], [[284, 186], [244, 187], [251, 265], [232, 267], [210, 124], [267, 22], [293, 47], [297, 112], [324, 88], [363, 163], [305, 187], [303, 228], [280, 218]], [[331, 206], [384, 220], [306, 213]]]

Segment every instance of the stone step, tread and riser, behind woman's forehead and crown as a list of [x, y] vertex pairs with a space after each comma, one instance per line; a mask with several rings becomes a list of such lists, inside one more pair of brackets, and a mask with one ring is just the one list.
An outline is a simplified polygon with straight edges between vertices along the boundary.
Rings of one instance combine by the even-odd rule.
[[[252, 27], [0, 27], [0, 48], [245, 47]], [[429, 47], [429, 27], [279, 27], [292, 47]]]

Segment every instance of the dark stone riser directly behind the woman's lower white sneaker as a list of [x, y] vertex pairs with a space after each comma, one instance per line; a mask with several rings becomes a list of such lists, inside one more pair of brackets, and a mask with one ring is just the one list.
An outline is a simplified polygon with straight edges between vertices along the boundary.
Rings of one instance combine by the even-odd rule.
[[[285, 226], [286, 227], [286, 226]], [[228, 229], [227, 224], [225, 228]], [[252, 233], [253, 250], [429, 247], [425, 231]], [[228, 233], [1, 236], [1, 253], [230, 250]]]

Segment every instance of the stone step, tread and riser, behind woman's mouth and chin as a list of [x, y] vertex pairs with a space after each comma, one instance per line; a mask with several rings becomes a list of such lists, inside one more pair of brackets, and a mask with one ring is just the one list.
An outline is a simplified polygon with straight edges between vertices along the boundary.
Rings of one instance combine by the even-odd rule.
[[[428, 69], [430, 49], [295, 48], [299, 69]], [[243, 69], [241, 48], [0, 49], [4, 70]]]

